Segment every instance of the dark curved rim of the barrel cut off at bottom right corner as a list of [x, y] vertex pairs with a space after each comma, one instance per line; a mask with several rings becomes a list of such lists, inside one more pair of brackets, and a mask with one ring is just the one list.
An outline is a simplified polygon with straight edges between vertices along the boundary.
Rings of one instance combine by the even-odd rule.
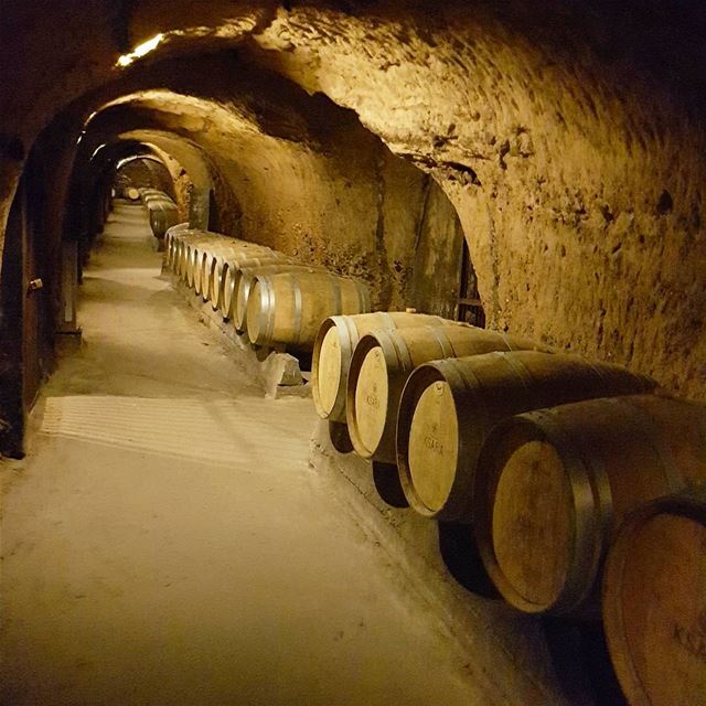
[[[629, 513], [607, 553], [601, 580], [603, 633], [616, 676], [632, 706], [653, 706], [653, 700], [643, 686], [639, 670], [632, 660], [625, 635], [620, 588], [627, 559], [633, 550], [631, 542], [645, 523], [663, 514], [683, 517], [706, 526], [706, 484], [691, 492], [657, 498]], [[666, 668], [670, 667], [671, 665], [667, 665]]]

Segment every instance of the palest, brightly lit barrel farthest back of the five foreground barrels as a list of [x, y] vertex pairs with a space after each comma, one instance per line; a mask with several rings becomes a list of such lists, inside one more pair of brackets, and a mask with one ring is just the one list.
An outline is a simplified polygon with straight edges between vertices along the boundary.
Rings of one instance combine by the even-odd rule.
[[448, 319], [407, 311], [376, 311], [329, 317], [313, 345], [311, 392], [322, 419], [345, 421], [345, 389], [351, 359], [357, 342], [375, 330], [408, 329], [451, 323]]

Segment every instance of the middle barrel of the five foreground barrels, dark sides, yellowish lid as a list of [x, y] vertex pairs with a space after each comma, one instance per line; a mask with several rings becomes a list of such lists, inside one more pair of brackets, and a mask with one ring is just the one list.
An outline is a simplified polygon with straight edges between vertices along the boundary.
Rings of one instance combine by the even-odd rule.
[[501, 419], [564, 403], [651, 392], [656, 384], [620, 365], [533, 351], [429, 363], [403, 394], [397, 426], [399, 480], [427, 517], [471, 522], [483, 442]]

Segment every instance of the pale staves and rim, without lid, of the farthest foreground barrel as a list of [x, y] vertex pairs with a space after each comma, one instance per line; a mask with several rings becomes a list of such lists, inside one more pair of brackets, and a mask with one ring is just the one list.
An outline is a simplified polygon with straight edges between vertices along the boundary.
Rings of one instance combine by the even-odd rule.
[[[374, 311], [364, 314], [349, 314], [349, 315], [335, 315], [329, 317], [323, 321], [317, 339], [314, 341], [313, 356], [311, 359], [311, 392], [317, 409], [317, 414], [321, 419], [329, 419], [330, 421], [339, 421], [341, 424], [346, 422], [345, 408], [346, 408], [346, 388], [349, 378], [349, 368], [351, 365], [351, 359], [353, 357], [353, 351], [361, 340], [361, 336], [376, 330], [395, 330], [403, 328], [411, 328], [411, 325], [400, 325], [400, 322], [396, 321], [395, 314], [405, 314], [407, 317], [419, 317], [418, 323], [415, 325], [442, 325], [447, 323], [453, 323], [442, 317], [424, 313], [413, 313], [408, 311]], [[379, 325], [359, 325], [362, 321], [361, 317], [379, 315], [382, 321]], [[435, 323], [436, 322], [436, 323]], [[330, 329], [335, 328], [339, 332], [339, 342], [341, 346], [342, 366], [341, 377], [339, 379], [339, 393], [336, 400], [331, 409], [328, 411], [323, 408], [321, 399], [319, 397], [319, 356], [321, 354], [321, 345]]]

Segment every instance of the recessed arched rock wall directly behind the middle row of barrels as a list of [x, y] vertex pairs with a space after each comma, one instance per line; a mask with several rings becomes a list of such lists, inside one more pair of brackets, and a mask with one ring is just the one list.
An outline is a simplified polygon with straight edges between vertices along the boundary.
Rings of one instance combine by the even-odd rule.
[[[188, 141], [208, 158], [220, 231], [363, 279], [376, 307], [453, 315], [458, 216], [438, 185], [354, 113], [229, 55], [156, 64], [129, 87], [118, 99], [109, 99], [115, 89], [95, 98], [108, 107], [87, 126], [86, 152], [140, 121], [150, 129], [122, 137]], [[425, 210], [427, 201], [435, 207]]]

